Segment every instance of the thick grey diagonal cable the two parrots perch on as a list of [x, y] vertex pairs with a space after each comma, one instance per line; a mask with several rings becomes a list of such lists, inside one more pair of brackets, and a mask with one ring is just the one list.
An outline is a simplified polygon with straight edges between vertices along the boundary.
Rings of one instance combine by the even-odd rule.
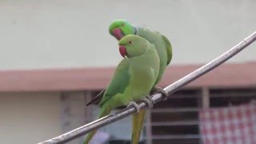
[[[175, 91], [182, 88], [186, 84], [194, 81], [196, 78], [201, 77], [203, 74], [206, 74], [210, 70], [213, 70], [217, 66], [221, 65], [223, 62], [226, 62], [228, 59], [232, 58], [235, 54], [238, 54], [241, 50], [245, 49], [251, 43], [256, 40], [256, 31], [253, 34], [250, 34], [249, 37], [245, 38], [242, 42], [239, 42], [238, 45], [232, 47], [226, 53], [222, 54], [218, 58], [215, 58], [213, 61], [207, 63], [205, 66], [194, 70], [194, 72], [186, 75], [185, 77], [179, 79], [177, 82], [174, 82], [170, 86], [167, 86], [164, 90], [168, 94], [173, 94]], [[154, 94], [152, 97], [154, 103], [162, 101], [162, 94]], [[139, 108], [145, 109], [146, 103], [139, 103]], [[65, 143], [70, 142], [71, 140], [83, 136], [84, 134], [89, 133], [91, 130], [98, 129], [102, 126], [109, 125], [110, 123], [116, 122], [119, 119], [125, 118], [130, 114], [136, 113], [136, 110], [133, 106], [127, 107], [126, 109], [119, 110], [114, 114], [107, 115], [106, 117], [99, 118], [94, 122], [90, 122], [84, 126], [78, 127], [77, 129], [71, 130], [66, 134], [59, 135], [58, 137], [46, 140], [45, 142], [40, 142], [39, 144], [53, 144], [53, 143]]]

